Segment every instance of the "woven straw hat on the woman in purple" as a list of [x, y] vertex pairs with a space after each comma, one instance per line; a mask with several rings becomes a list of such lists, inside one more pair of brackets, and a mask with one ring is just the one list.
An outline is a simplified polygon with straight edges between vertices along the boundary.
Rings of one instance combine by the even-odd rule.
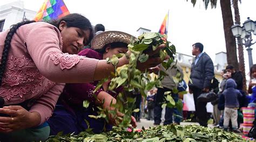
[[101, 49], [105, 45], [113, 42], [124, 42], [125, 44], [130, 44], [131, 38], [134, 38], [128, 33], [120, 31], [106, 31], [97, 34], [91, 42], [92, 49]]

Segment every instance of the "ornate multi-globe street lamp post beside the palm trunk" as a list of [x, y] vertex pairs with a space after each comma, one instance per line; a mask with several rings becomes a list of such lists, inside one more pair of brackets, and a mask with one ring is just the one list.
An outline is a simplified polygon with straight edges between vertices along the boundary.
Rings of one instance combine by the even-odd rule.
[[233, 33], [233, 36], [235, 36], [238, 39], [238, 44], [244, 45], [247, 47], [248, 52], [248, 60], [249, 60], [249, 68], [253, 65], [252, 60], [252, 48], [251, 46], [255, 44], [255, 42], [252, 42], [252, 32], [254, 35], [256, 35], [256, 22], [253, 22], [253, 20], [250, 19], [250, 17], [247, 18], [247, 20], [244, 22], [243, 26], [241, 27], [239, 24], [235, 24], [231, 26], [231, 30]]

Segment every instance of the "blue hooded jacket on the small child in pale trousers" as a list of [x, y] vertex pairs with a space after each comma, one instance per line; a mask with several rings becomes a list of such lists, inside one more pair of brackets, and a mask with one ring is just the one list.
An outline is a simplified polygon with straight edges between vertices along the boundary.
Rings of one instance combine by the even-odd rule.
[[242, 97], [242, 94], [235, 88], [237, 88], [237, 83], [233, 79], [228, 79], [226, 81], [226, 89], [223, 92], [226, 108], [239, 108], [238, 98]]

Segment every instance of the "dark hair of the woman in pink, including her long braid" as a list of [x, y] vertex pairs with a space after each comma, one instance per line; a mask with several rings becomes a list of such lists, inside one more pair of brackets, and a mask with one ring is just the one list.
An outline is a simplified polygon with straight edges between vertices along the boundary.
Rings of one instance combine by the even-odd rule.
[[[79, 29], [82, 29], [82, 30], [90, 30], [91, 34], [90, 34], [89, 40], [86, 44], [91, 42], [91, 39], [93, 38], [93, 30], [92, 30], [92, 25], [91, 25], [89, 19], [87, 19], [84, 16], [79, 15], [77, 13], [72, 13], [72, 14], [64, 16], [58, 20], [52, 20], [52, 22], [50, 22], [50, 24], [56, 26], [59, 29], [59, 24], [62, 21], [66, 22], [67, 27], [78, 27]], [[25, 25], [25, 24], [33, 23], [33, 22], [35, 22], [35, 21], [28, 20], [28, 21], [20, 22], [20, 23], [17, 23], [15, 25], [11, 26], [11, 29], [8, 32], [8, 34], [5, 38], [5, 41], [4, 41], [4, 49], [3, 49], [2, 60], [1, 60], [1, 65], [0, 65], [0, 86], [2, 84], [3, 74], [5, 71], [6, 61], [8, 59], [9, 49], [11, 47], [12, 37], [14, 36], [15, 32], [17, 31], [17, 29], [19, 27], [21, 27], [22, 25]]]

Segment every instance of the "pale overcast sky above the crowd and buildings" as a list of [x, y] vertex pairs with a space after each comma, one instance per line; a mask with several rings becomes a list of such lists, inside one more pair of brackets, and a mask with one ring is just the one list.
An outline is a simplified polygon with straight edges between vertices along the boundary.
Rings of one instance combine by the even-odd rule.
[[[14, 0], [15, 1], [15, 0]], [[1, 0], [4, 5], [12, 0]], [[17, 0], [16, 0], [17, 1]], [[25, 9], [38, 11], [44, 0], [23, 0]], [[219, 0], [220, 1], [220, 0]], [[211, 5], [205, 10], [203, 1], [196, 6], [186, 0], [64, 0], [71, 13], [81, 13], [92, 25], [101, 23], [107, 30], [123, 31], [137, 36], [139, 27], [158, 32], [161, 23], [169, 12], [168, 39], [176, 46], [177, 52], [191, 55], [192, 44], [201, 42], [204, 51], [214, 61], [215, 53], [226, 52], [220, 3], [217, 8]], [[227, 0], [228, 1], [228, 0]], [[242, 0], [239, 4], [241, 23], [250, 17], [256, 20], [256, 1]], [[253, 37], [254, 41], [256, 37]], [[256, 44], [252, 46], [253, 60], [256, 63]], [[244, 50], [246, 72], [248, 73], [248, 56]]]

